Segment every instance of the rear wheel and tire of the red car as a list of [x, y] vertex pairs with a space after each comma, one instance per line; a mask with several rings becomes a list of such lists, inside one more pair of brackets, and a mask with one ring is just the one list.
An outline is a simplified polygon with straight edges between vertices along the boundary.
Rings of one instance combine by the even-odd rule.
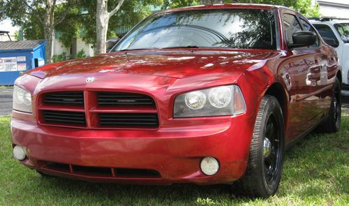
[[320, 133], [335, 133], [339, 131], [341, 126], [341, 82], [336, 78], [334, 89], [332, 92], [331, 106], [329, 107], [329, 115], [324, 124], [318, 126], [316, 131]]

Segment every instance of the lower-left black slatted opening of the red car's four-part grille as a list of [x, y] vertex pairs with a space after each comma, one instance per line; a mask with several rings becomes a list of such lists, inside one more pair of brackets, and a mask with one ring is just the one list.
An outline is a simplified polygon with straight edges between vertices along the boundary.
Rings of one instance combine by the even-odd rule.
[[52, 110], [43, 110], [43, 119], [45, 123], [50, 124], [64, 124], [86, 126], [86, 119], [84, 112], [61, 112]]

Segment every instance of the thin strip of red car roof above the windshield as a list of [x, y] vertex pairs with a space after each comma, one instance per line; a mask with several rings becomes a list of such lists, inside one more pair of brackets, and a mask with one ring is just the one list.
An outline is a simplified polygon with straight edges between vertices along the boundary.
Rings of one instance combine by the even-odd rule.
[[259, 8], [259, 9], [272, 9], [272, 8], [287, 8], [284, 6], [276, 6], [272, 4], [259, 4], [259, 3], [217, 3], [211, 5], [199, 5], [199, 6], [188, 6], [182, 8], [172, 8], [169, 10], [161, 10], [158, 13], [168, 13], [181, 10], [200, 10], [209, 8]]

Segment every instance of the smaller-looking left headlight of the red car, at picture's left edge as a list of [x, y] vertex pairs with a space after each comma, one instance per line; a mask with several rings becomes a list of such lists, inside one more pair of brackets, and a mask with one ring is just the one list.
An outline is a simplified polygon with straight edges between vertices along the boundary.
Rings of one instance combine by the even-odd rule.
[[16, 85], [13, 87], [13, 110], [32, 112], [30, 92]]

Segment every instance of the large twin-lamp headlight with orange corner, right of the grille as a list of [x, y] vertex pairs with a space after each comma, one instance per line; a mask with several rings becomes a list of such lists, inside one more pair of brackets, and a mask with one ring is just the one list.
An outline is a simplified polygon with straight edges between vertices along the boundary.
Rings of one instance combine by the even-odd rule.
[[236, 85], [191, 91], [174, 100], [174, 117], [211, 117], [246, 112], [242, 91]]

